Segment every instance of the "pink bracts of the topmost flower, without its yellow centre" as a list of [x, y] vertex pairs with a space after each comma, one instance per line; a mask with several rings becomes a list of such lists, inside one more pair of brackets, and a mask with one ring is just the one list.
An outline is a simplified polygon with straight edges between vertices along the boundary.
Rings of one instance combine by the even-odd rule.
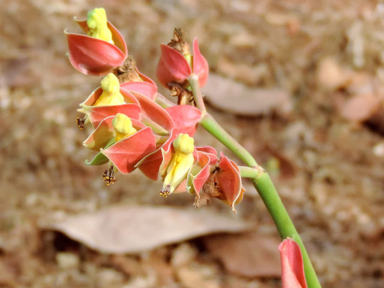
[[[77, 20], [75, 18], [75, 21], [85, 33], [88, 32], [87, 19]], [[128, 49], [124, 38], [109, 21], [107, 25], [115, 45], [87, 35], [68, 33], [64, 30], [68, 41], [69, 61], [79, 72], [86, 75], [106, 75], [116, 67], [121, 66], [127, 58]]]

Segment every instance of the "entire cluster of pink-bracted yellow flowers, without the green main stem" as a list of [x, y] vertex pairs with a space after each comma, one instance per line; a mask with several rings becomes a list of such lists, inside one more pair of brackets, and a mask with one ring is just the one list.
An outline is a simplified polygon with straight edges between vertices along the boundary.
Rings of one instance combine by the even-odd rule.
[[[212, 147], [196, 147], [192, 138], [205, 112], [193, 105], [175, 105], [157, 92], [152, 79], [141, 74], [128, 56], [126, 43], [107, 20], [103, 8], [77, 20], [87, 35], [68, 33], [71, 64], [86, 75], [103, 76], [100, 86], [80, 104], [80, 129], [92, 133], [83, 145], [96, 152], [89, 165], [107, 164], [104, 181], [116, 181], [117, 172], [139, 169], [147, 177], [163, 180], [161, 195], [173, 192], [195, 194], [195, 206], [204, 206], [212, 197], [226, 201], [234, 210], [244, 188], [238, 166]], [[169, 45], [161, 45], [156, 75], [166, 87], [178, 87], [191, 95], [189, 80], [198, 77], [205, 85], [208, 63], [201, 55], [197, 39], [193, 55], [175, 30]]]

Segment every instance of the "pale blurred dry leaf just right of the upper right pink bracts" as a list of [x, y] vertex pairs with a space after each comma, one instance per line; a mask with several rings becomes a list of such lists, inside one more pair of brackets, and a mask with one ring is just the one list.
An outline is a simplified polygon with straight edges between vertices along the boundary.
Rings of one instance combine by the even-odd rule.
[[254, 89], [214, 74], [210, 74], [202, 92], [212, 106], [238, 115], [285, 115], [292, 110], [290, 96], [281, 89]]

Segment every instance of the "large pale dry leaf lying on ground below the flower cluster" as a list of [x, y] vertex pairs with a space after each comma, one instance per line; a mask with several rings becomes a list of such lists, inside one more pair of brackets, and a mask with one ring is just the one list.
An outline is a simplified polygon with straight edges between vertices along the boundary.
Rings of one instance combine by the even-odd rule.
[[107, 253], [133, 253], [216, 232], [250, 230], [232, 215], [209, 210], [120, 205], [70, 216], [46, 229], [58, 230]]

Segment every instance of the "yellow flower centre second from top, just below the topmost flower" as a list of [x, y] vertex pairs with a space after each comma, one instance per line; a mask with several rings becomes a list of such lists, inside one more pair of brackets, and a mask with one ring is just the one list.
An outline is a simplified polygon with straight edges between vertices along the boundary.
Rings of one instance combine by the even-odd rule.
[[104, 77], [100, 85], [103, 93], [96, 100], [95, 106], [124, 104], [124, 96], [120, 93], [119, 80], [113, 73]]

